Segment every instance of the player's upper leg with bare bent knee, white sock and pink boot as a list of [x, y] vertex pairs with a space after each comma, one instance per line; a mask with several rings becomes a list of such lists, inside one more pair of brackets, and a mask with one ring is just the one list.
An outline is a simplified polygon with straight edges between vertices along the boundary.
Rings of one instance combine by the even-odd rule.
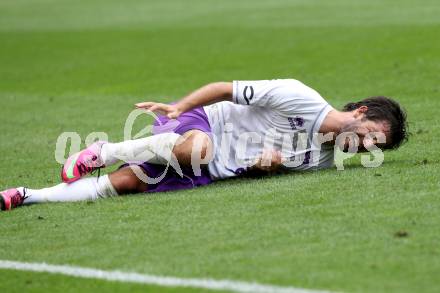
[[171, 164], [181, 173], [182, 166], [207, 164], [212, 156], [212, 141], [200, 130], [189, 130], [183, 135], [162, 133], [119, 143], [98, 142], [71, 156], [62, 169], [62, 179], [71, 183], [97, 168], [126, 163], [148, 162]]

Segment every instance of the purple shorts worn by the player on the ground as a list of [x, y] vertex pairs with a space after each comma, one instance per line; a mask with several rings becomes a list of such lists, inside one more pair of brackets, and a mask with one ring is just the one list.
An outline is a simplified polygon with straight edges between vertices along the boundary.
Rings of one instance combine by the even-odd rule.
[[[174, 132], [183, 135], [185, 132], [197, 129], [211, 135], [211, 126], [209, 125], [208, 116], [202, 107], [195, 108], [191, 111], [181, 114], [177, 119], [170, 120], [166, 116], [158, 116], [158, 120], [153, 125], [153, 135]], [[126, 167], [128, 164], [121, 166]], [[166, 169], [164, 165], [151, 163], [142, 163], [138, 165], [151, 178], [158, 178]], [[196, 176], [191, 167], [181, 166], [183, 177], [177, 174], [176, 170], [171, 166], [168, 167], [165, 177], [156, 184], [148, 184], [146, 192], [162, 192], [171, 190], [189, 189], [198, 186], [207, 185], [212, 182], [211, 176], [207, 168], [201, 168], [200, 176]]]

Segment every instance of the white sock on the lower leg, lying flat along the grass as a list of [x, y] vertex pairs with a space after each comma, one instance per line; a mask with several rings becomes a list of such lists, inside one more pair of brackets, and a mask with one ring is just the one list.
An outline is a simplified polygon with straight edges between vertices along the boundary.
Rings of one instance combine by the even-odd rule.
[[[23, 194], [23, 189], [19, 189]], [[99, 178], [82, 178], [70, 184], [61, 183], [43, 189], [26, 188], [24, 204], [51, 201], [96, 200], [98, 197], [117, 196], [118, 193], [110, 182], [108, 175]]]

